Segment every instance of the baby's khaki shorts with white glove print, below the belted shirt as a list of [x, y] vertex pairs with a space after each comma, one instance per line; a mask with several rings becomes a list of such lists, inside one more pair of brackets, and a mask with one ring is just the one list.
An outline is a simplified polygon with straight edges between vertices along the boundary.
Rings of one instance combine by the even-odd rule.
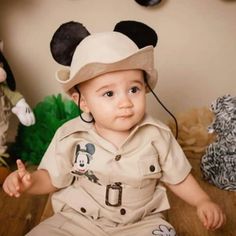
[[128, 225], [111, 220], [93, 220], [68, 208], [40, 223], [27, 236], [175, 236], [174, 228], [164, 220], [163, 214], [154, 214]]

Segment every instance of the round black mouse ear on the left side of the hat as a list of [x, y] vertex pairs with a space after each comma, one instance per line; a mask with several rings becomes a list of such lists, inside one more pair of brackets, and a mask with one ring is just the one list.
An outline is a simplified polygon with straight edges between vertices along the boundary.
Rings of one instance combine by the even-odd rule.
[[50, 42], [53, 58], [60, 64], [70, 66], [77, 45], [90, 33], [78, 22], [62, 24], [54, 33]]

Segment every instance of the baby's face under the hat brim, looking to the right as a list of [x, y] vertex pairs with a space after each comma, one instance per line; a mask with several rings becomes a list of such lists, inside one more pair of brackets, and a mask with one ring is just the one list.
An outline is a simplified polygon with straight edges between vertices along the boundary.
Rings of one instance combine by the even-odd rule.
[[[128, 131], [144, 116], [146, 92], [141, 70], [110, 72], [79, 86], [80, 108], [100, 129]], [[78, 94], [72, 95], [78, 102]]]

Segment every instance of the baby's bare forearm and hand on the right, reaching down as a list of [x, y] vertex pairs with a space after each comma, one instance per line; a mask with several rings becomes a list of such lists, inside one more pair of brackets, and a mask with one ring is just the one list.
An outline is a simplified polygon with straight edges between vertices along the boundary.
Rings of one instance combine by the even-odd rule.
[[181, 183], [167, 184], [167, 186], [181, 199], [197, 208], [198, 217], [207, 229], [215, 230], [224, 224], [224, 213], [203, 191], [191, 174]]

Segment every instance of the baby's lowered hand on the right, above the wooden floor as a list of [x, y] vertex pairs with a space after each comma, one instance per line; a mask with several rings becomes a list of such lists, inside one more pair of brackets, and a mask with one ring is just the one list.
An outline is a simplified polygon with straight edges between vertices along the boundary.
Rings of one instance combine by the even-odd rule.
[[220, 207], [209, 199], [199, 203], [197, 214], [208, 230], [218, 229], [226, 220], [225, 214]]

